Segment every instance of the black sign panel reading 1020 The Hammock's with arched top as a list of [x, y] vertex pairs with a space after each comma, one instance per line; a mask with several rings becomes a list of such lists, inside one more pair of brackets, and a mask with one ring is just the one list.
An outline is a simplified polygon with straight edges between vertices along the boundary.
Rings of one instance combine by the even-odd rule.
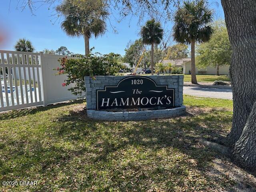
[[117, 86], [97, 90], [97, 109], [174, 107], [174, 89], [157, 86], [144, 76], [120, 80]]

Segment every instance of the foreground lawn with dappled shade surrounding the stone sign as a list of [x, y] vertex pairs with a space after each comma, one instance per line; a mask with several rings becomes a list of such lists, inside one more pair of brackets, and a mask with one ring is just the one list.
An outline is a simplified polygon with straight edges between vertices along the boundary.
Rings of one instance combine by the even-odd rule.
[[184, 104], [185, 116], [132, 122], [88, 119], [82, 101], [0, 114], [0, 183], [38, 182], [0, 191], [235, 188], [226, 167], [236, 166], [198, 141], [228, 134], [232, 101], [184, 96]]

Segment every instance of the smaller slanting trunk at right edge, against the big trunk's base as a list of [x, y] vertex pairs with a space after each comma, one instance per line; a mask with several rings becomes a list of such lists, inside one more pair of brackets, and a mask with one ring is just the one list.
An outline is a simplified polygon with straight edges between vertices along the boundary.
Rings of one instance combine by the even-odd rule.
[[238, 165], [256, 172], [256, 102], [246, 125], [234, 147], [234, 158]]

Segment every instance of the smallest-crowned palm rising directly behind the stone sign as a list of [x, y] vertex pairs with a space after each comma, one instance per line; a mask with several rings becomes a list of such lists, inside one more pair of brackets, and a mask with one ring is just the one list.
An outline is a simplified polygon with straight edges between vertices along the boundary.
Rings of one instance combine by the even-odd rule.
[[154, 75], [154, 44], [159, 44], [163, 38], [163, 29], [160, 22], [148, 20], [140, 30], [142, 42], [151, 45], [151, 75]]

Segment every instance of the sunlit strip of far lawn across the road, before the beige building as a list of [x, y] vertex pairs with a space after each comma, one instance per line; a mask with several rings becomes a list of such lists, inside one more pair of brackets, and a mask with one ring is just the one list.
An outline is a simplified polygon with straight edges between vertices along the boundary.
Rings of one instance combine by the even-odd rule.
[[[151, 74], [140, 74], [140, 75], [145, 75], [149, 76]], [[155, 74], [156, 75], [156, 74]], [[163, 75], [163, 74], [160, 74]], [[164, 74], [164, 75], [169, 75], [169, 74]], [[197, 82], [201, 83], [212, 83], [214, 81], [230, 81], [230, 78], [226, 75], [196, 75]], [[191, 75], [184, 75], [184, 82], [191, 82]]]

